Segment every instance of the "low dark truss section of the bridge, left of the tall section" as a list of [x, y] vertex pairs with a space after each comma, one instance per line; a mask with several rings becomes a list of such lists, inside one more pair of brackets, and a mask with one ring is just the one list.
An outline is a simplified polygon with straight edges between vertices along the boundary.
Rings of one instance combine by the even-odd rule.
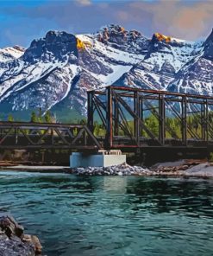
[[97, 150], [101, 147], [86, 125], [0, 122], [0, 149]]

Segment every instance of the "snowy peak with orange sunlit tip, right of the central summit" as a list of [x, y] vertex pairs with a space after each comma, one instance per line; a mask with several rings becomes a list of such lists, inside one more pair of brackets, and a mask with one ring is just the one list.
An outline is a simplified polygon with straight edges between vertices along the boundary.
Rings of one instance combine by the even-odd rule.
[[[116, 85], [167, 90], [186, 63], [203, 52], [203, 43], [185, 42], [155, 33], [144, 59], [116, 81]], [[171, 87], [179, 92], [179, 87]]]

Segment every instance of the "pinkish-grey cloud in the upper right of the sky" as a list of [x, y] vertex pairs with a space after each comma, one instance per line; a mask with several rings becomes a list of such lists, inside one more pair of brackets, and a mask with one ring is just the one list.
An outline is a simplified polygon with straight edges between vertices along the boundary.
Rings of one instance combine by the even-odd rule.
[[160, 0], [153, 3], [131, 3], [131, 15], [147, 11], [153, 31], [188, 40], [196, 40], [210, 32], [213, 25], [212, 1]]

